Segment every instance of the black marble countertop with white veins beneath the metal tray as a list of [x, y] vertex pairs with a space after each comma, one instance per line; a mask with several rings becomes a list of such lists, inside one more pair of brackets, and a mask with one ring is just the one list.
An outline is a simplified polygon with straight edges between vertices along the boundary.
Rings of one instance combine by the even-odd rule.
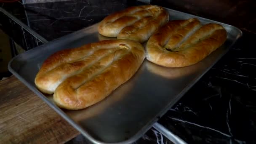
[[[168, 3], [171, 3], [170, 1]], [[0, 28], [28, 50], [95, 24], [114, 11], [140, 4], [128, 0], [75, 0], [26, 5], [20, 2], [2, 3], [0, 5], [3, 9], [26, 26], [16, 24], [6, 14], [0, 13], [1, 19], [5, 20], [0, 22]], [[154, 4], [158, 4], [157, 0]], [[159, 2], [159, 5], [163, 6], [163, 2]], [[13, 9], [13, 6], [16, 8]], [[172, 8], [172, 5], [167, 6]], [[198, 11], [192, 14], [208, 16]], [[251, 23], [254, 19], [251, 18]], [[242, 29], [243, 36], [158, 120], [158, 123], [187, 143], [256, 143], [256, 31], [254, 27], [250, 29], [251, 25], [236, 25], [234, 19], [227, 23]], [[68, 143], [77, 139], [84, 138], [78, 136]], [[151, 128], [135, 143], [172, 142]]]

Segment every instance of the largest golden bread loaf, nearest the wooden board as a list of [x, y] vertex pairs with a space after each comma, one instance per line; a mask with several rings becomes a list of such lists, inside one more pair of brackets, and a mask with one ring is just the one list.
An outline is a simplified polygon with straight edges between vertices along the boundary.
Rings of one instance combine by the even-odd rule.
[[108, 96], [129, 80], [145, 58], [132, 40], [103, 40], [59, 51], [46, 59], [35, 85], [65, 109], [83, 109]]

